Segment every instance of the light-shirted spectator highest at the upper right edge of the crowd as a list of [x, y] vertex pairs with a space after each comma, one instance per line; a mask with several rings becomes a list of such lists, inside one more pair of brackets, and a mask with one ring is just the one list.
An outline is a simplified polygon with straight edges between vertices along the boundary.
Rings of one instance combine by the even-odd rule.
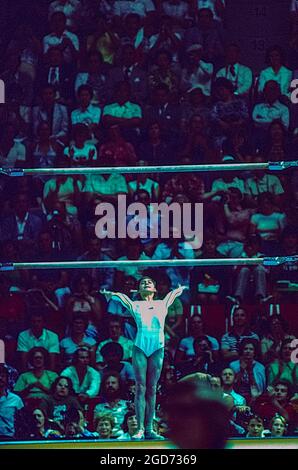
[[264, 90], [269, 80], [275, 80], [282, 95], [290, 96], [290, 86], [293, 72], [283, 65], [283, 51], [279, 46], [271, 47], [266, 54], [266, 62], [270, 65], [262, 70], [259, 77], [258, 92]]

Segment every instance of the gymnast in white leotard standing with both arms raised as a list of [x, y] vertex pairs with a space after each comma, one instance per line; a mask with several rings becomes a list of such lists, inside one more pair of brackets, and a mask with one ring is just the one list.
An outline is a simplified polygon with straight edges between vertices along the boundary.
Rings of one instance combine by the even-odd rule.
[[116, 298], [134, 317], [137, 335], [133, 347], [132, 365], [136, 376], [135, 411], [138, 431], [133, 439], [163, 439], [153, 430], [156, 404], [156, 387], [164, 357], [164, 325], [168, 308], [176, 297], [182, 294], [186, 286], [179, 286], [169, 292], [163, 300], [154, 300], [156, 283], [150, 277], [143, 277], [139, 282], [139, 294], [142, 300], [132, 301], [120, 292], [101, 291], [109, 300]]

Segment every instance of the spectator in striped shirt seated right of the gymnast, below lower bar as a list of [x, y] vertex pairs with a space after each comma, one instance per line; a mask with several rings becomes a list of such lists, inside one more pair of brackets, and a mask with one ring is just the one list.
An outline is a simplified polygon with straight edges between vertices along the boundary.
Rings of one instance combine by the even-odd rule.
[[239, 344], [241, 340], [259, 340], [256, 333], [249, 329], [248, 314], [242, 307], [237, 307], [232, 315], [232, 328], [221, 338], [221, 352], [225, 360], [239, 359]]

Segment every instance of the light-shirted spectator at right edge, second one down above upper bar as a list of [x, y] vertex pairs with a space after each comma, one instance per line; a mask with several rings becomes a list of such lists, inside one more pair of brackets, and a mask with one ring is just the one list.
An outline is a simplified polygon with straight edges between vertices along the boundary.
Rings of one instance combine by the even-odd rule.
[[257, 104], [252, 113], [255, 125], [264, 130], [276, 120], [280, 120], [286, 129], [290, 125], [289, 108], [279, 101], [280, 88], [279, 84], [270, 80], [264, 87], [264, 100]]

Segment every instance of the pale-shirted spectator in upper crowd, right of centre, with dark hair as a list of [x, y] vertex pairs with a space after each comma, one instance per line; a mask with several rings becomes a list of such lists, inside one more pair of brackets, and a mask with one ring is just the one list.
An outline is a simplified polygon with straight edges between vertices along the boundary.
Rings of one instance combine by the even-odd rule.
[[213, 65], [202, 60], [202, 45], [193, 44], [186, 53], [186, 67], [181, 74], [181, 90], [186, 92], [190, 88], [200, 85], [203, 93], [210, 96]]

